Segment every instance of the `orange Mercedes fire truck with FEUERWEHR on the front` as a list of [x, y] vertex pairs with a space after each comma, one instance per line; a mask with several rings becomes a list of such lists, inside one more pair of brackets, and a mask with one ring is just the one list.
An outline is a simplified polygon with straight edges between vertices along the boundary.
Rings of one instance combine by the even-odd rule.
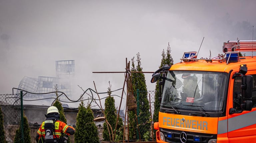
[[227, 41], [222, 50], [213, 58], [184, 52], [153, 73], [158, 143], [256, 143], [256, 40]]

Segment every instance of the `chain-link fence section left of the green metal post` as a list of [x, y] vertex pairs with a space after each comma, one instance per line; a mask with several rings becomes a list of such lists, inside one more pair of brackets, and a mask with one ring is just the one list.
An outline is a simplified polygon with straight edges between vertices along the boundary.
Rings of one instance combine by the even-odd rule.
[[5, 141], [13, 143], [15, 132], [21, 123], [20, 94], [0, 94], [0, 106], [3, 114]]

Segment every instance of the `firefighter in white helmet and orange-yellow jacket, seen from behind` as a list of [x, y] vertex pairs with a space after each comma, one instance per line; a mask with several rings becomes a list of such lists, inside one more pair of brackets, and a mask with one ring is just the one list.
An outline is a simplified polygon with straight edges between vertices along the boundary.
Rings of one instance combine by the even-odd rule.
[[61, 137], [62, 134], [73, 135], [75, 129], [59, 120], [59, 110], [51, 106], [47, 109], [46, 120], [41, 124], [36, 134], [37, 143], [61, 143], [66, 142], [67, 136]]

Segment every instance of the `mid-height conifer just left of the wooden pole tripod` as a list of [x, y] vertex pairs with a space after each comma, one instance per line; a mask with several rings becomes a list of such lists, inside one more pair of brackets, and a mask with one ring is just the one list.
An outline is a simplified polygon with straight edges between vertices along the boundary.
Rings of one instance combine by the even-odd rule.
[[[111, 97], [111, 84], [109, 81], [109, 87], [108, 87], [108, 91], [107, 91], [108, 97], [105, 100], [105, 110], [104, 110], [104, 114], [105, 117], [108, 121], [108, 123], [111, 125], [111, 128], [113, 130], [113, 134], [115, 132], [115, 127], [116, 127], [116, 118], [117, 118], [117, 110], [115, 108], [115, 99], [113, 97]], [[120, 120], [121, 119], [121, 120]], [[117, 124], [117, 130], [116, 130], [116, 136], [118, 137], [117, 140], [119, 140], [121, 137], [120, 136], [120, 131], [122, 131], [123, 129], [123, 120], [121, 117], [119, 117], [118, 119], [118, 124]], [[109, 131], [111, 129], [108, 129], [108, 125], [107, 122], [103, 123], [103, 139], [104, 141], [111, 141], [112, 140], [112, 136], [113, 134], [110, 132], [110, 137], [109, 137]], [[122, 136], [123, 138], [123, 136]]]

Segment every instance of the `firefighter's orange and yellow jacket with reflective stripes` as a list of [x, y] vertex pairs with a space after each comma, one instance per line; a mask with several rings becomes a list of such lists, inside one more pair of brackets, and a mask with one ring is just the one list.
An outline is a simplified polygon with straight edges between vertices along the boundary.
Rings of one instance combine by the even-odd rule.
[[[54, 125], [55, 125], [55, 132], [53, 133], [53, 138], [60, 138], [61, 137], [61, 133], [65, 133], [67, 135], [73, 135], [75, 133], [75, 129], [72, 126], [68, 126], [66, 123], [56, 119], [56, 118], [52, 118], [52, 117], [48, 117], [47, 115], [47, 119], [53, 119]], [[37, 135], [36, 135], [36, 141], [38, 142], [38, 140], [41, 137], [45, 137], [45, 128], [44, 128], [44, 122], [41, 124], [40, 128], [37, 131]]]

